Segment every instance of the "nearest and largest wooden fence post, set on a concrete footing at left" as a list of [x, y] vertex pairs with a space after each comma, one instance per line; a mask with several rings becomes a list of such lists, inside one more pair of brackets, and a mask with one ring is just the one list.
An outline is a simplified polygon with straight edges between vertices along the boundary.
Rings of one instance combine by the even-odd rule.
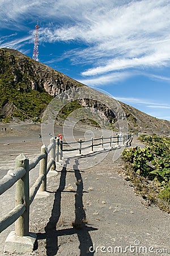
[[20, 154], [15, 160], [15, 168], [18, 167], [23, 167], [26, 172], [16, 181], [15, 205], [24, 204], [25, 212], [15, 222], [15, 234], [23, 237], [29, 234], [29, 160], [24, 154]]

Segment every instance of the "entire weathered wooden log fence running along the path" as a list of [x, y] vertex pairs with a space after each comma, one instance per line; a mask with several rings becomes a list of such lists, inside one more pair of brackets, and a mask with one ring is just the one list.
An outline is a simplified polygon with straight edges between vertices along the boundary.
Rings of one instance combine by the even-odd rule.
[[[46, 191], [46, 175], [49, 170], [56, 170], [56, 162], [62, 160], [63, 152], [77, 150], [78, 155], [82, 155], [82, 151], [86, 148], [91, 148], [90, 152], [94, 152], [94, 147], [101, 146], [101, 149], [104, 149], [104, 145], [108, 143], [111, 148], [113, 148], [113, 144], [117, 147], [120, 142], [124, 144], [124, 146], [128, 146], [128, 143], [131, 144], [132, 139], [133, 137], [131, 137], [130, 134], [122, 137], [91, 138], [86, 141], [79, 139], [77, 142], [69, 143], [59, 141], [58, 138], [51, 138], [49, 146], [46, 148], [45, 145], [43, 145], [41, 147], [41, 154], [37, 155], [36, 158], [29, 161], [24, 154], [20, 154], [15, 159], [15, 170], [9, 170], [0, 180], [0, 195], [16, 183], [15, 208], [1, 218], [0, 233], [15, 222], [16, 236], [24, 237], [29, 235], [29, 207], [38, 190]], [[90, 142], [90, 145], [82, 147], [86, 142]], [[75, 143], [78, 143], [78, 147], [63, 149], [63, 146]], [[48, 162], [49, 156], [50, 159]], [[32, 187], [29, 188], [29, 171], [35, 168], [39, 162], [39, 177]]]

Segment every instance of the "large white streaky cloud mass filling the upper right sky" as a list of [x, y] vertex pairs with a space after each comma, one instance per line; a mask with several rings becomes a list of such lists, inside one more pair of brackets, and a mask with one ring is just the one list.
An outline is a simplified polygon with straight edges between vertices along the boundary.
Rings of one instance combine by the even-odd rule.
[[73, 63], [76, 60], [91, 64], [92, 68], [83, 71], [83, 76], [169, 65], [170, 1], [124, 1], [121, 6], [118, 1], [105, 1], [105, 5], [99, 1], [97, 6], [96, 1], [91, 1], [86, 7], [84, 1], [76, 3], [71, 1], [66, 7], [71, 23], [45, 29], [42, 35], [43, 40], [50, 42], [85, 43], [85, 49], [65, 53]]

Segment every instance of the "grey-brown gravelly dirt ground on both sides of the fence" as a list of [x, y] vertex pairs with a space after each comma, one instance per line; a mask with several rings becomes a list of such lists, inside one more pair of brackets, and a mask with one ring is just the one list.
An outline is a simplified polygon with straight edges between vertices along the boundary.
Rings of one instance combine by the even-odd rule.
[[[7, 166], [12, 168], [19, 150], [36, 155], [42, 144], [38, 138], [39, 125], [23, 124], [24, 129], [12, 126], [12, 131], [8, 126], [6, 133], [2, 131], [0, 135], [1, 177]], [[16, 137], [18, 129], [21, 129], [20, 136]], [[143, 146], [134, 138], [132, 146], [137, 145]], [[99, 154], [102, 158], [103, 152]], [[113, 154], [111, 150], [99, 164], [85, 170], [79, 168], [79, 158], [74, 159], [73, 168], [67, 168], [70, 159], [66, 159], [65, 167], [58, 165], [57, 172], [48, 175], [49, 196], [36, 198], [30, 209], [29, 230], [37, 234], [37, 244], [33, 253], [25, 255], [170, 253], [169, 214], [154, 205], [148, 207], [146, 201], [135, 194], [133, 186], [119, 174], [121, 158], [113, 162]], [[88, 156], [89, 161], [91, 157]], [[37, 171], [31, 172], [31, 182]], [[14, 190], [3, 195], [1, 212], [4, 214], [14, 204], [15, 199], [11, 203]], [[0, 255], [5, 255], [3, 246], [11, 230], [14, 224], [0, 235]]]

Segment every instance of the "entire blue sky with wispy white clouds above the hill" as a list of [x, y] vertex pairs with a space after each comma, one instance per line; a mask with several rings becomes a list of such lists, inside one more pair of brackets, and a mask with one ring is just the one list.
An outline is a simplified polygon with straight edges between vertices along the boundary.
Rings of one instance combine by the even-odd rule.
[[170, 120], [170, 0], [0, 0], [0, 47]]

